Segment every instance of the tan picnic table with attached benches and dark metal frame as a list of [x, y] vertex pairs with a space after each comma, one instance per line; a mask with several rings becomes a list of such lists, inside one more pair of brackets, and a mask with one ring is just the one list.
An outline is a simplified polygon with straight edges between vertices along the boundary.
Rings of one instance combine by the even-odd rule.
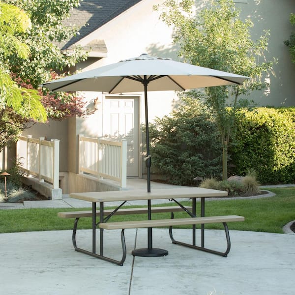
[[[71, 198], [84, 200], [92, 203], [91, 217], [92, 217], [92, 252], [81, 249], [76, 246], [76, 240], [74, 238], [74, 234], [76, 235], [77, 227], [74, 227], [73, 232], [73, 244], [76, 251], [83, 252], [85, 254], [94, 256], [96, 258], [100, 258], [109, 262], [116, 263], [118, 265], [123, 265], [123, 262], [126, 258], [126, 245], [125, 245], [125, 237], [124, 230], [127, 228], [148, 228], [148, 246], [143, 249], [135, 249], [132, 251], [134, 256], [164, 256], [168, 255], [168, 251], [165, 249], [154, 248], [152, 246], [152, 228], [159, 226], [169, 226], [170, 237], [175, 244], [181, 244], [184, 246], [192, 247], [195, 249], [203, 250], [206, 252], [210, 252], [213, 254], [218, 254], [222, 256], [227, 256], [230, 250], [230, 237], [229, 231], [226, 222], [230, 221], [243, 221], [244, 217], [236, 216], [236, 215], [227, 215], [227, 216], [208, 216], [205, 217], [205, 199], [206, 198], [216, 198], [216, 197], [226, 197], [228, 195], [225, 191], [212, 190], [206, 188], [199, 187], [187, 187], [187, 188], [177, 188], [177, 189], [154, 189], [151, 192], [147, 192], [146, 190], [124, 190], [124, 191], [107, 191], [107, 192], [87, 192], [87, 193], [72, 193], [70, 194]], [[187, 198], [187, 200], [191, 200], [192, 207], [191, 210], [187, 207], [182, 206], [176, 199], [179, 198]], [[153, 211], [153, 207], [151, 207], [151, 200], [160, 200], [167, 199], [167, 201], [174, 202], [177, 204], [177, 209], [175, 206], [172, 206], [171, 211], [172, 218], [171, 219], [159, 219], [152, 220], [151, 213]], [[196, 200], [201, 199], [201, 216], [197, 217], [196, 215]], [[132, 209], [124, 209], [123, 205], [126, 204], [127, 201], [138, 201], [138, 200], [146, 200], [148, 207], [144, 209], [143, 212], [147, 213], [147, 220], [138, 220], [138, 221], [123, 221], [123, 222], [111, 222], [109, 221], [113, 215], [119, 214], [132, 214]], [[106, 216], [104, 212], [105, 203], [108, 202], [121, 202], [120, 205], [114, 209], [109, 210]], [[96, 210], [96, 204], [99, 204], [99, 210]], [[156, 207], [154, 207], [156, 208]], [[166, 207], [167, 208], [167, 207]], [[189, 215], [189, 218], [174, 218], [174, 211], [184, 210]], [[126, 211], [129, 210], [129, 211]], [[165, 210], [164, 210], [165, 211]], [[163, 211], [163, 212], [164, 212]], [[82, 211], [83, 212], [83, 211]], [[60, 217], [66, 217], [66, 212], [60, 212]], [[78, 222], [80, 217], [78, 213], [73, 213], [70, 215], [71, 217], [76, 217], [76, 222]], [[82, 214], [82, 213], [81, 213]], [[84, 214], [85, 215], [85, 214]], [[69, 215], [68, 215], [69, 216]], [[89, 215], [88, 215], [89, 216]], [[96, 222], [96, 217], [99, 216], [99, 222]], [[205, 235], [204, 235], [204, 225], [206, 223], [223, 223], [226, 233], [227, 239], [227, 249], [225, 252], [219, 252], [211, 249], [205, 248]], [[183, 225], [190, 224], [192, 225], [192, 244], [186, 244], [180, 241], [176, 241], [172, 235], [172, 227], [174, 225]], [[196, 224], [201, 224], [201, 246], [196, 246]], [[96, 253], [96, 229], [99, 226], [100, 230], [100, 253]], [[112, 258], [104, 256], [104, 230], [112, 230], [112, 229], [121, 229], [121, 242], [122, 242], [122, 259], [114, 260]]]

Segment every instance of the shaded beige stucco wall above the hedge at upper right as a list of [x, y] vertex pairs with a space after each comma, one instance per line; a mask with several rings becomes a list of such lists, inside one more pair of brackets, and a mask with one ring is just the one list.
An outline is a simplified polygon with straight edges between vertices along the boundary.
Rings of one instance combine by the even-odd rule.
[[294, 0], [247, 0], [248, 3], [236, 3], [241, 8], [241, 19], [249, 17], [254, 23], [251, 32], [253, 40], [258, 39], [263, 30], [269, 30], [268, 53], [266, 59], [278, 59], [269, 79], [270, 88], [256, 91], [249, 98], [261, 106], [295, 106], [295, 64], [291, 63], [289, 49], [283, 43], [295, 30], [289, 21], [295, 13]]

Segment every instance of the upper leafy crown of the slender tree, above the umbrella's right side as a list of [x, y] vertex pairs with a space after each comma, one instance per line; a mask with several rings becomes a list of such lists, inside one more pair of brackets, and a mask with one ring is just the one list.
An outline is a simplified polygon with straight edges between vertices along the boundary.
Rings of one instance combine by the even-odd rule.
[[267, 85], [262, 74], [273, 64], [264, 57], [269, 33], [264, 32], [254, 42], [250, 31], [253, 23], [240, 20], [233, 0], [212, 0], [209, 8], [196, 15], [193, 5], [193, 0], [166, 0], [161, 5], [161, 19], [174, 26], [174, 42], [180, 45], [178, 55], [192, 64], [251, 77], [244, 86], [223, 88], [225, 93], [238, 96], [264, 89]]

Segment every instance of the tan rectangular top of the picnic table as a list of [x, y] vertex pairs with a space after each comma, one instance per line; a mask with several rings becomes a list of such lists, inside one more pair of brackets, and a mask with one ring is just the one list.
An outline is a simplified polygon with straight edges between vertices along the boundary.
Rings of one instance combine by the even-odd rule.
[[219, 191], [201, 187], [164, 188], [147, 190], [121, 190], [107, 192], [72, 193], [70, 198], [84, 200], [92, 203], [114, 201], [136, 201], [176, 198], [214, 198], [226, 197], [226, 191]]

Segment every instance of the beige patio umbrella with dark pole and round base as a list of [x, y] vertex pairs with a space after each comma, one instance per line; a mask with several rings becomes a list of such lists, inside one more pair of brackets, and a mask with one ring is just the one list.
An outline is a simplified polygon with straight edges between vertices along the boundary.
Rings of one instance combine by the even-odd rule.
[[[144, 92], [146, 115], [147, 184], [150, 192], [148, 91], [185, 90], [211, 86], [241, 85], [248, 77], [217, 71], [171, 59], [140, 57], [121, 60], [76, 75], [44, 83], [52, 91], [103, 91], [108, 93]], [[148, 219], [151, 219], [151, 204], [148, 200]], [[136, 256], [164, 256], [168, 251], [152, 248], [152, 229], [148, 228], [148, 248], [136, 249]]]

